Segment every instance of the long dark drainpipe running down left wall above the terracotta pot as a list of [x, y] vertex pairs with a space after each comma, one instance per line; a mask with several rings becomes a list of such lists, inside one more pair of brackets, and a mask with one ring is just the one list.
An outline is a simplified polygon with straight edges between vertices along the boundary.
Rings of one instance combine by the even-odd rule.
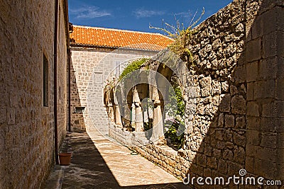
[[54, 14], [54, 41], [53, 41], [53, 67], [54, 67], [54, 146], [55, 146], [55, 164], [58, 161], [58, 0], [55, 0]]

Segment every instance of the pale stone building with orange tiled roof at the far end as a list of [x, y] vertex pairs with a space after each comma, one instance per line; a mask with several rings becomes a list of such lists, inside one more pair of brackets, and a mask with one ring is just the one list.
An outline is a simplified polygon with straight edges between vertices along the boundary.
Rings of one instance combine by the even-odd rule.
[[173, 40], [158, 33], [75, 25], [70, 34], [72, 130], [108, 133], [104, 81], [119, 75], [132, 59], [152, 57]]

